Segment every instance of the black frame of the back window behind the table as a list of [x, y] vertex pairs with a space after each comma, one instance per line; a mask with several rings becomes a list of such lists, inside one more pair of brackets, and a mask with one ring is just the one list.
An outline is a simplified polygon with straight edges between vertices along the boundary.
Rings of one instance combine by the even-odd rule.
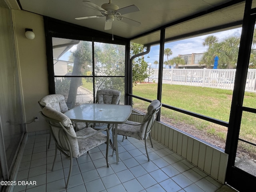
[[[90, 28], [78, 26], [75, 24], [71, 24], [68, 22], [64, 22], [61, 20], [56, 20], [54, 18], [44, 16], [44, 29], [46, 36], [46, 56], [47, 56], [47, 67], [48, 67], [48, 81], [49, 81], [49, 94], [55, 94], [55, 77], [62, 77], [54, 75], [54, 67], [53, 67], [53, 52], [52, 52], [52, 38], [66, 38], [73, 40], [83, 40], [94, 42], [102, 42], [109, 44], [119, 44], [125, 46], [125, 74], [128, 71], [128, 60], [129, 60], [129, 52], [130, 50], [130, 41], [126, 38], [122, 38], [119, 36], [114, 36], [114, 40], [112, 40], [112, 34], [100, 32], [97, 30], [92, 30]], [[65, 76], [65, 77], [76, 77], [76, 76]], [[125, 79], [125, 82], [128, 82], [127, 75], [124, 76], [95, 76], [93, 73], [92, 76], [79, 76], [79, 77], [122, 77]], [[127, 93], [127, 84], [124, 85], [124, 92]], [[95, 98], [95, 87], [93, 88], [93, 95]], [[124, 96], [124, 104], [127, 104], [126, 96]]]

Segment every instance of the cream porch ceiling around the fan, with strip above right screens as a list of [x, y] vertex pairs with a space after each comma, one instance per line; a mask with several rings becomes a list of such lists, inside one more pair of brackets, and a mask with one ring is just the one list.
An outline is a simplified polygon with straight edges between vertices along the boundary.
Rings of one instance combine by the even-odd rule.
[[[90, 1], [98, 6], [108, 3], [108, 0]], [[231, 0], [112, 0], [112, 3], [118, 5], [119, 8], [132, 4], [140, 8], [140, 11], [125, 14], [124, 17], [141, 23], [140, 26], [136, 27], [114, 20], [113, 33], [114, 35], [124, 38], [133, 38], [230, 1]], [[74, 19], [76, 17], [95, 14], [100, 15], [99, 11], [84, 6], [82, 0], [18, 0], [18, 2], [22, 10], [112, 34], [112, 30], [104, 30], [105, 17], [84, 20]], [[211, 12], [205, 16], [200, 16], [198, 19], [192, 19], [186, 23], [176, 24], [167, 28], [166, 38], [242, 20], [243, 12], [244, 3]], [[154, 32], [147, 37], [138, 38], [135, 42], [147, 44], [159, 39], [160, 32]]]

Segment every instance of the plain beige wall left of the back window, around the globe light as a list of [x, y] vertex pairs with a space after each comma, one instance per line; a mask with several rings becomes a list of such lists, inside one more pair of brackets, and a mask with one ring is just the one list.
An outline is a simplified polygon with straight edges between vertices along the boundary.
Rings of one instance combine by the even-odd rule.
[[[48, 126], [39, 114], [38, 105], [38, 100], [49, 94], [43, 17], [12, 9], [12, 22], [24, 121], [31, 122], [34, 116], [39, 117], [39, 122], [26, 124], [26, 130], [46, 130]], [[25, 37], [25, 28], [33, 29], [33, 40]]]

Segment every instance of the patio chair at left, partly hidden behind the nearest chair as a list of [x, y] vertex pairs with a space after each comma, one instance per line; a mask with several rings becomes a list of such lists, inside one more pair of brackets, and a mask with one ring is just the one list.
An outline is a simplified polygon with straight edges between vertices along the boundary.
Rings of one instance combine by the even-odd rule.
[[[66, 104], [66, 100], [65, 100], [64, 96], [61, 94], [51, 94], [51, 95], [44, 96], [43, 98], [41, 98], [38, 101], [38, 104], [41, 108], [48, 106], [48, 107], [52, 107], [55, 110], [62, 112], [62, 113], [65, 113], [68, 111], [68, 106]], [[79, 131], [83, 128], [88, 127], [88, 125], [84, 122], [73, 122], [73, 124], [75, 125], [76, 131]], [[51, 142], [51, 134], [50, 134], [48, 148], [50, 146], [50, 142]]]

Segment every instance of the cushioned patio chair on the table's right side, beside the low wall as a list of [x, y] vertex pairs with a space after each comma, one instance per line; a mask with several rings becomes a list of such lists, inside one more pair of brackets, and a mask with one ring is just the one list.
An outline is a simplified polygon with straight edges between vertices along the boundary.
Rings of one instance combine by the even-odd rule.
[[[151, 128], [156, 120], [158, 111], [161, 108], [161, 106], [162, 106], [162, 104], [160, 103], [159, 100], [153, 100], [151, 102], [151, 104], [148, 106], [148, 112], [144, 116], [142, 123], [138, 123], [138, 122], [134, 122], [134, 121], [127, 121], [125, 124], [119, 124], [117, 126], [117, 129], [112, 130], [112, 131], [117, 131], [117, 134], [119, 134], [119, 135], [123, 135], [123, 140], [124, 140], [124, 136], [133, 137], [138, 140], [144, 139], [148, 161], [150, 161], [150, 159], [148, 156], [146, 140], [149, 136], [150, 143], [153, 148], [150, 131], [151, 131]], [[136, 115], [142, 115], [142, 114], [136, 114]]]

